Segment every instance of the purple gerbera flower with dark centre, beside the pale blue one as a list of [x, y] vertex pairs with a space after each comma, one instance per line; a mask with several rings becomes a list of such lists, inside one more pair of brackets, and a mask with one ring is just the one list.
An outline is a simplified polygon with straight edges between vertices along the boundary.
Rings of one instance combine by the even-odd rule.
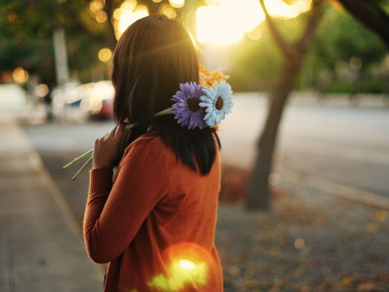
[[199, 106], [200, 97], [204, 95], [200, 85], [196, 82], [181, 83], [180, 89], [181, 91], [177, 91], [171, 99], [176, 102], [173, 104], [174, 118], [178, 119], [181, 127], [186, 125], [189, 125], [189, 129], [206, 127], [207, 124], [204, 121], [205, 108]]

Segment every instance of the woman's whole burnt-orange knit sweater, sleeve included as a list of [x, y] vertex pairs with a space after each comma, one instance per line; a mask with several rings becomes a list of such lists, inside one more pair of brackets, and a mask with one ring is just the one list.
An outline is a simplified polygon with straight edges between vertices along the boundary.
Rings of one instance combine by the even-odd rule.
[[84, 217], [89, 257], [109, 262], [104, 292], [221, 292], [214, 245], [219, 152], [206, 176], [161, 137], [130, 144], [117, 168], [92, 169]]

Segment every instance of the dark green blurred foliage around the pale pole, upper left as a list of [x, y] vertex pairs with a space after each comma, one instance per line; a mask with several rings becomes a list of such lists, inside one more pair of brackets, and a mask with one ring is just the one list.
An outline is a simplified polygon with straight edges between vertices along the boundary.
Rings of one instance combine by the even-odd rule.
[[88, 12], [88, 1], [2, 0], [0, 3], [0, 72], [23, 67], [42, 82], [55, 82], [53, 30], [65, 29], [69, 67], [85, 70], [99, 62], [103, 32]]

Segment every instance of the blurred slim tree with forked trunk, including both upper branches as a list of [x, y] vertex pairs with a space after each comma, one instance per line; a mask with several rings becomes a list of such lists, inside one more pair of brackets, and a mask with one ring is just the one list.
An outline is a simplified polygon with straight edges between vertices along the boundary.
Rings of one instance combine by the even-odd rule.
[[272, 36], [282, 52], [282, 64], [273, 89], [270, 93], [270, 108], [265, 128], [258, 141], [258, 157], [249, 183], [247, 208], [268, 209], [270, 203], [268, 177], [272, 167], [273, 151], [277, 137], [278, 125], [284, 104], [294, 86], [295, 77], [300, 70], [303, 57], [310, 45], [315, 28], [322, 12], [322, 1], [314, 0], [307, 20], [305, 32], [297, 42], [283, 37], [268, 14], [263, 0], [259, 0]]

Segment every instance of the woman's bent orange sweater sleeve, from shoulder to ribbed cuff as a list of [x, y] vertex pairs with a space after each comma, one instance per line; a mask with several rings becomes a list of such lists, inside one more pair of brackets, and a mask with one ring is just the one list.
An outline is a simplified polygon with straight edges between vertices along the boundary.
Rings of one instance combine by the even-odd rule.
[[169, 192], [167, 158], [158, 141], [140, 140], [129, 146], [110, 192], [107, 181], [103, 182], [106, 170], [91, 171], [84, 216], [86, 248], [97, 263], [121, 255]]

